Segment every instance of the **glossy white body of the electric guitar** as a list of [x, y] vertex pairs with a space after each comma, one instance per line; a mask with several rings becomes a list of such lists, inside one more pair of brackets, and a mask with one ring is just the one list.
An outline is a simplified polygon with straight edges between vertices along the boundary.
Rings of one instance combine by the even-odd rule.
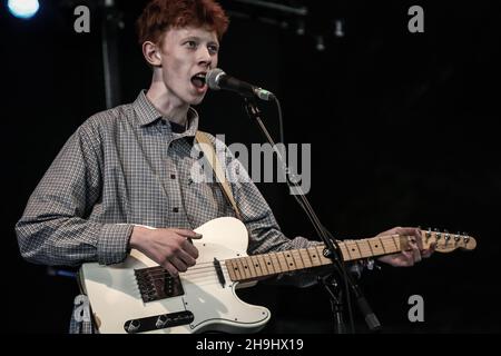
[[[179, 275], [180, 295], [144, 301], [135, 270], [158, 265], [137, 250], [118, 265], [91, 263], [81, 267], [82, 287], [100, 333], [143, 333], [141, 327], [159, 323], [159, 316], [163, 316], [160, 322], [168, 319], [170, 324], [147, 333], [254, 333], [266, 325], [269, 310], [240, 300], [235, 293], [238, 281], [229, 279], [224, 265], [225, 259], [246, 256], [248, 234], [245, 225], [238, 219], [223, 217], [195, 231], [203, 235], [202, 239], [194, 240], [199, 257], [194, 267]], [[224, 283], [214, 267], [215, 258], [220, 261]]]

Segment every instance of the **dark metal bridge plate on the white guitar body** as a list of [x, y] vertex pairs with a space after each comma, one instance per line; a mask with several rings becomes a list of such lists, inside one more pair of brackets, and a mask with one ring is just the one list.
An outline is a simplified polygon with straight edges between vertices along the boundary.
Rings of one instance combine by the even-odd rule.
[[171, 277], [161, 267], [135, 269], [137, 286], [144, 303], [173, 298], [185, 294], [179, 277]]

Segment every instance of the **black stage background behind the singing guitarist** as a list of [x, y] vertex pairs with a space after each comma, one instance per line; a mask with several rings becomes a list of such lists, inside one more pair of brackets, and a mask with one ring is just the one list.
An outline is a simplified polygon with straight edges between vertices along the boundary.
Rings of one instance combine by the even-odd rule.
[[[306, 33], [299, 36], [297, 17], [222, 1], [232, 23], [219, 67], [275, 92], [286, 141], [312, 144], [308, 198], [335, 236], [421, 226], [477, 238], [473, 253], [434, 254], [413, 268], [364, 273], [362, 286], [383, 332], [499, 333], [501, 16], [494, 1], [438, 2], [307, 2]], [[66, 333], [76, 283], [22, 260], [13, 226], [63, 142], [106, 109], [102, 12], [92, 7], [90, 33], [76, 33], [71, 1], [41, 1], [29, 21], [11, 17], [6, 4], [0, 10], [2, 326]], [[132, 26], [144, 4], [117, 1], [125, 24], [116, 68], [120, 102], [149, 86]], [[424, 9], [424, 33], [407, 31], [413, 4]], [[334, 33], [336, 19], [344, 36]], [[283, 21], [287, 24], [279, 26]], [[318, 34], [324, 51], [315, 48]], [[197, 109], [202, 128], [226, 134], [226, 144], [264, 141], [233, 93], [209, 92]], [[275, 107], [262, 109], [277, 138]], [[288, 236], [316, 238], [285, 186], [258, 186]], [[415, 294], [424, 298], [424, 323], [407, 320], [407, 298]], [[240, 295], [272, 309], [265, 332], [332, 332], [320, 287], [259, 285]], [[366, 333], [355, 316], [357, 332]]]

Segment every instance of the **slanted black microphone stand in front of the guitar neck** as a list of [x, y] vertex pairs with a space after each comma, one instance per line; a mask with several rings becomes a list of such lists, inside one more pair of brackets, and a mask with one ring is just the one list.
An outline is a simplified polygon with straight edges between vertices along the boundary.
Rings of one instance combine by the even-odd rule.
[[[279, 107], [278, 100], [276, 98], [275, 98], [275, 100]], [[295, 182], [297, 182], [297, 179], [294, 177], [294, 179], [293, 179], [294, 182], [291, 181], [291, 176], [293, 176], [293, 174], [291, 174], [289, 168], [287, 167], [287, 164], [285, 162], [282, 154], [276, 148], [275, 141], [273, 140], [272, 136], [269, 135], [268, 130], [266, 129], [265, 125], [263, 123], [263, 120], [261, 119], [261, 110], [257, 107], [255, 100], [249, 97], [244, 97], [244, 101], [245, 101], [245, 109], [246, 109], [248, 117], [257, 122], [257, 125], [259, 126], [266, 140], [273, 147], [273, 150], [276, 152], [278, 160], [283, 165], [283, 168], [284, 168], [284, 171], [286, 175], [286, 181], [287, 181], [289, 189], [291, 190], [295, 189], [295, 191], [298, 192], [298, 194], [293, 194], [295, 200], [305, 210], [305, 212], [306, 212], [307, 217], [310, 218], [310, 220], [312, 221], [316, 233], [324, 241], [325, 249], [324, 249], [323, 255], [333, 260], [333, 265], [337, 270], [338, 277], [344, 279], [352, 333], [354, 333], [354, 326], [353, 326], [353, 317], [352, 317], [352, 312], [351, 312], [350, 288], [355, 294], [355, 298], [357, 300], [358, 308], [360, 308], [361, 313], [363, 314], [369, 328], [371, 330], [379, 330], [381, 328], [381, 324], [379, 323], [374, 313], [371, 310], [371, 307], [369, 306], [369, 303], [366, 301], [365, 297], [363, 296], [362, 291], [360, 290], [357, 284], [354, 283], [354, 280], [351, 278], [351, 276], [346, 273], [343, 254], [341, 251], [340, 246], [337, 245], [336, 239], [321, 224], [317, 215], [313, 210], [312, 206], [310, 205], [310, 201], [307, 200], [306, 196], [302, 191], [301, 187], [296, 186]], [[333, 274], [331, 274], [330, 276], [324, 277], [324, 278], [318, 277], [318, 281], [323, 285], [323, 287], [326, 289], [326, 291], [330, 295], [332, 312], [334, 314], [335, 332], [338, 334], [346, 333], [346, 327], [345, 327], [344, 320], [343, 320], [342, 288], [340, 288]]]

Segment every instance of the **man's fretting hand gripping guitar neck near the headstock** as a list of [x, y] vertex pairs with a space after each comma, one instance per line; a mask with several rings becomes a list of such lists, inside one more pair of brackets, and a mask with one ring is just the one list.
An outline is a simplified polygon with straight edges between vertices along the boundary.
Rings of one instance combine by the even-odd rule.
[[409, 245], [412, 249], [399, 254], [382, 256], [379, 257], [377, 260], [394, 267], [410, 267], [414, 266], [414, 264], [419, 263], [422, 258], [430, 257], [434, 251], [435, 246], [433, 244], [428, 249], [423, 248], [421, 231], [420, 229], [413, 227], [394, 227], [387, 231], [379, 234], [377, 236], [395, 234], [410, 236]]

